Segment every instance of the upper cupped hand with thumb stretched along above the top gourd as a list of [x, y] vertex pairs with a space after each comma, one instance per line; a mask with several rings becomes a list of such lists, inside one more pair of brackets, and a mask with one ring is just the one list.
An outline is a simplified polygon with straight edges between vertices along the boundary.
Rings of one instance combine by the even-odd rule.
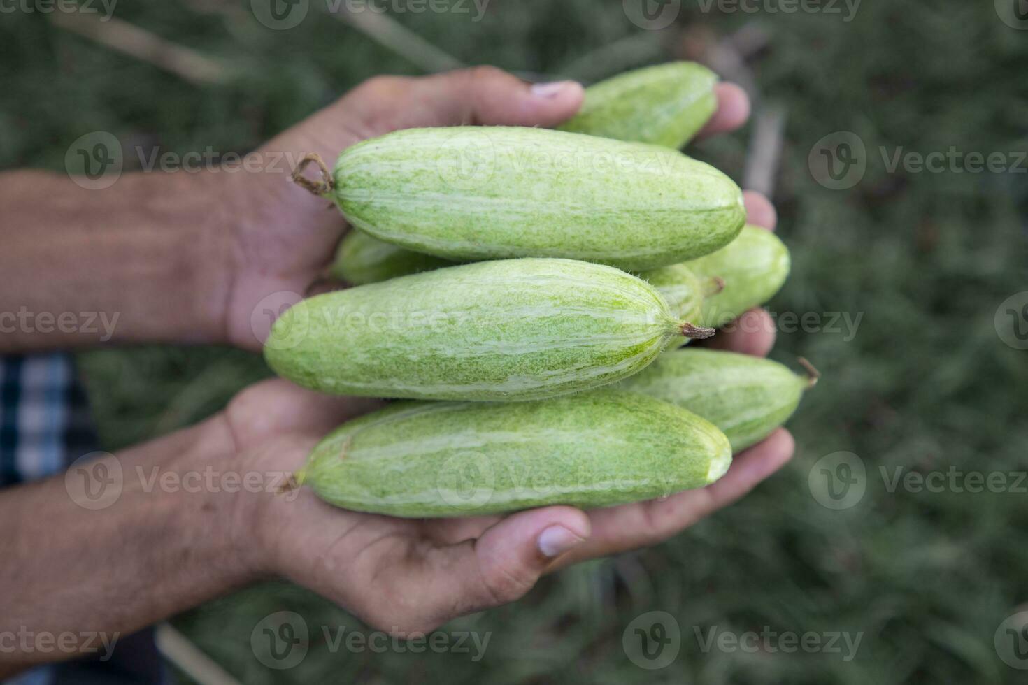
[[[719, 109], [702, 135], [731, 130], [748, 114], [732, 84], [717, 86]], [[381, 76], [269, 141], [258, 155], [276, 172], [317, 152], [335, 159], [345, 148], [400, 128], [453, 125], [554, 126], [582, 104], [573, 81], [531, 85], [491, 67], [423, 78]], [[291, 169], [288, 169], [291, 170]], [[334, 257], [346, 224], [335, 207], [313, 199], [268, 173], [225, 177], [226, 217], [232, 222], [225, 298], [228, 341], [258, 349], [273, 314], [310, 292]], [[281, 297], [276, 297], [279, 294]]]

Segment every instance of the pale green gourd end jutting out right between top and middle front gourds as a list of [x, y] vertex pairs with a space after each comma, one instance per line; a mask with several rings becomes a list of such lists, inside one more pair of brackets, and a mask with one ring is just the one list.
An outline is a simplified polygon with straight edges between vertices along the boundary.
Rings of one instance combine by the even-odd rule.
[[739, 237], [715, 253], [687, 262], [699, 276], [718, 276], [725, 288], [703, 301], [700, 326], [718, 328], [757, 307], [781, 289], [788, 276], [788, 249], [771, 231], [746, 226]]

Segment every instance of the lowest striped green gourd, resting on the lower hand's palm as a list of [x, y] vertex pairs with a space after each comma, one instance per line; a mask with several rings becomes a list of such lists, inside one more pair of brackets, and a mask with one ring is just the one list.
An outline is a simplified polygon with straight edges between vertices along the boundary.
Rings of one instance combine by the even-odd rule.
[[653, 499], [705, 486], [730, 463], [709, 422], [603, 388], [530, 403], [402, 403], [332, 432], [298, 480], [356, 511], [454, 517]]

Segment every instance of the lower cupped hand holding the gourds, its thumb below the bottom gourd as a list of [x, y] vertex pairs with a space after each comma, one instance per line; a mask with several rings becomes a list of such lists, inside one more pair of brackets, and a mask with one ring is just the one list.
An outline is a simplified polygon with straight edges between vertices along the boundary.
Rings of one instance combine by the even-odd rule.
[[[747, 194], [749, 222], [774, 226], [767, 199]], [[744, 315], [719, 345], [766, 354], [774, 343], [767, 312]], [[717, 339], [717, 338], [715, 338]], [[282, 380], [254, 386], [226, 418], [243, 469], [291, 471], [310, 448], [371, 399], [329, 397]], [[781, 467], [793, 439], [778, 429], [737, 455], [717, 483], [663, 500], [581, 511], [547, 506], [507, 517], [408, 520], [332, 507], [303, 488], [296, 498], [255, 502], [264, 572], [285, 575], [346, 607], [368, 623], [427, 632], [462, 614], [512, 602], [539, 577], [567, 564], [655, 544], [726, 506]]]

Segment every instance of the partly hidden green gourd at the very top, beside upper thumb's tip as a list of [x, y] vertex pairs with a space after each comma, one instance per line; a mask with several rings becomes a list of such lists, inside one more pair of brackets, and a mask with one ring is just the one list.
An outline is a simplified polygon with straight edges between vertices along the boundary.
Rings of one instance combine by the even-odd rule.
[[694, 62], [626, 72], [585, 90], [561, 130], [682, 148], [718, 109], [718, 75]]

